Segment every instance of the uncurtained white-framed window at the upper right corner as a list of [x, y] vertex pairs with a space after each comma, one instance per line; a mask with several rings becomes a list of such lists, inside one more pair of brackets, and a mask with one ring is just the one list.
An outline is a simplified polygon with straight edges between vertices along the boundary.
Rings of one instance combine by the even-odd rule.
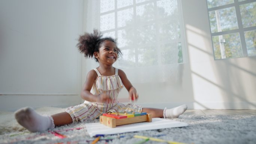
[[256, 56], [256, 0], [207, 0], [215, 59]]

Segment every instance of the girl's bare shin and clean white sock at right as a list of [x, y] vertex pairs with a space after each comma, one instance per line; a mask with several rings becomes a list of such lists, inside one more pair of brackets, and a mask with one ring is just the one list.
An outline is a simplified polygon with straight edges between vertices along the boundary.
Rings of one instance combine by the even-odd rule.
[[187, 110], [187, 108], [187, 105], [183, 104], [179, 107], [174, 107], [171, 109], [165, 108], [163, 110], [158, 108], [143, 108], [142, 111], [152, 114], [152, 117], [177, 118], [181, 114], [183, 114]]

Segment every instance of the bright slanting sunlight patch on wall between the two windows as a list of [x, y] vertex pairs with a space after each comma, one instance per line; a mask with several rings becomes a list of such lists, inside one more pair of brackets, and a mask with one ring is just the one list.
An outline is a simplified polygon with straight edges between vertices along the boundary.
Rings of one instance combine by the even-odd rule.
[[[209, 50], [209, 37], [199, 28], [186, 25], [188, 37], [188, 57], [191, 67], [194, 108], [208, 108], [204, 105], [213, 101], [223, 101], [223, 91], [219, 88], [214, 72], [213, 53]], [[219, 105], [222, 107], [223, 105]]]

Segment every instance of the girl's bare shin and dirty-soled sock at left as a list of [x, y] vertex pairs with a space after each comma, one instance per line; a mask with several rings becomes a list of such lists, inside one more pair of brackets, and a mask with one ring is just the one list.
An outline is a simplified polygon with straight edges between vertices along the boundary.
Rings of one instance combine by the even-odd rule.
[[30, 132], [45, 131], [56, 126], [72, 123], [70, 115], [66, 112], [43, 116], [30, 107], [21, 108], [15, 112], [15, 119]]

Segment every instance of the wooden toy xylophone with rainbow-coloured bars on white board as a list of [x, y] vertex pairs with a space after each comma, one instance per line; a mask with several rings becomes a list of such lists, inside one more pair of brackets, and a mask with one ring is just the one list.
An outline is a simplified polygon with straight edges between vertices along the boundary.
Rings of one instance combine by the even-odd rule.
[[138, 122], [152, 122], [151, 114], [124, 111], [123, 113], [103, 113], [100, 116], [100, 123], [110, 128]]

